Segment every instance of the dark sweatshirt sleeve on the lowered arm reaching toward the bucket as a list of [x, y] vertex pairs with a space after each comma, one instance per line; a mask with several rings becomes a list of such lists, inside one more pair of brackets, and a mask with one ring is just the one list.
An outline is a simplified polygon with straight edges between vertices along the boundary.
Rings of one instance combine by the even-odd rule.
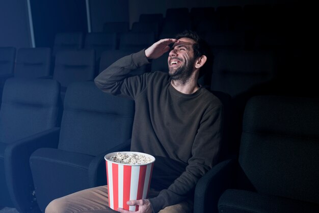
[[223, 105], [207, 111], [202, 118], [192, 147], [192, 157], [185, 171], [155, 198], [150, 198], [153, 211], [177, 204], [194, 193], [196, 183], [218, 163], [223, 126]]

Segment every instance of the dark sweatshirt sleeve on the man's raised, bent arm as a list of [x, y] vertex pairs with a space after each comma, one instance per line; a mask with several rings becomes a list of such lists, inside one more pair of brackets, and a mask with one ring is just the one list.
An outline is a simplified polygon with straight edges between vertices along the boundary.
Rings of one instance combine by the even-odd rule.
[[134, 99], [146, 87], [143, 76], [131, 76], [131, 70], [149, 64], [145, 50], [125, 56], [95, 77], [95, 85], [103, 92]]

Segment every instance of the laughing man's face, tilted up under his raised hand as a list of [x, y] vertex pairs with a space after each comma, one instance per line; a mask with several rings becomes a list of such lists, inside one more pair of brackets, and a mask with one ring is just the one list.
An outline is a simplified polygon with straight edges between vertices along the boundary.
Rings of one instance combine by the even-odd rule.
[[169, 75], [174, 80], [187, 81], [194, 70], [193, 44], [195, 41], [190, 38], [180, 38], [178, 40], [180, 42], [175, 43], [169, 53]]

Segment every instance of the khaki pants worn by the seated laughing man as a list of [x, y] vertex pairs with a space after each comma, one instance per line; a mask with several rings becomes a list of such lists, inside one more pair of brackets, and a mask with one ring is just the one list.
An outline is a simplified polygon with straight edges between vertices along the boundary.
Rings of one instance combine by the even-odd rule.
[[[150, 190], [148, 197], [155, 197], [158, 192]], [[118, 212], [111, 209], [109, 204], [108, 186], [82, 190], [51, 201], [45, 208], [45, 213], [77, 213], [77, 212]], [[159, 213], [190, 213], [193, 211], [192, 201], [183, 201], [176, 205], [167, 206]]]

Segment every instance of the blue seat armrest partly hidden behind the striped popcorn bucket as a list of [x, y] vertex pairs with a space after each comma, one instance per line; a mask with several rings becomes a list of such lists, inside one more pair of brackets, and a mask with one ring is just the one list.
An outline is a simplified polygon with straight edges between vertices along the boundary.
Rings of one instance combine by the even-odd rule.
[[89, 165], [89, 185], [90, 187], [97, 187], [99, 185], [107, 184], [107, 169], [105, 165], [104, 156], [111, 152], [129, 151], [130, 139], [126, 142], [113, 147], [102, 154], [97, 155]]

